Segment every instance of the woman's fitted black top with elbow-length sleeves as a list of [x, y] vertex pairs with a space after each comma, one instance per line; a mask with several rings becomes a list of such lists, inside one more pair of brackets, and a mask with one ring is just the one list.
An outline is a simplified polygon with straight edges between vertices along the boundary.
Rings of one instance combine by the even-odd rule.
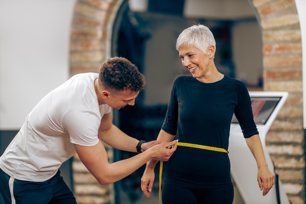
[[[227, 150], [233, 113], [245, 138], [258, 134], [244, 83], [228, 76], [208, 84], [179, 76], [162, 130], [176, 135], [179, 142]], [[230, 161], [226, 153], [178, 146], [169, 159], [166, 179], [175, 185], [221, 189], [231, 185]]]

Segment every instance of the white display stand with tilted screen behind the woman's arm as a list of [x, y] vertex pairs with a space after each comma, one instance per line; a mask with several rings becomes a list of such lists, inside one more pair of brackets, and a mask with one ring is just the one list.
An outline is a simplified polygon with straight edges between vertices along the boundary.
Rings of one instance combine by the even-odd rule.
[[[274, 164], [267, 151], [265, 138], [277, 114], [283, 107], [288, 93], [283, 91], [249, 91], [249, 94], [265, 159], [270, 171], [274, 173]], [[267, 195], [262, 196], [262, 191], [257, 182], [256, 161], [245, 142], [235, 116], [231, 123], [228, 151], [231, 161], [231, 176], [245, 204], [290, 204], [281, 181], [278, 181], [280, 199], [277, 199], [276, 185], [271, 188]]]

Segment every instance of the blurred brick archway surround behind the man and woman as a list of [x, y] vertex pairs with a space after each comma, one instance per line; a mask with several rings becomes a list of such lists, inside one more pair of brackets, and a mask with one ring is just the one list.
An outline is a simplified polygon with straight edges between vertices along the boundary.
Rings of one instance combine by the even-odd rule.
[[[110, 56], [114, 21], [126, 1], [76, 1], [70, 35], [70, 75], [97, 72], [101, 62]], [[304, 204], [302, 45], [295, 1], [248, 1], [262, 30], [263, 90], [289, 92], [266, 143], [291, 203]], [[110, 159], [111, 152], [109, 148]], [[79, 204], [113, 203], [113, 186], [99, 185], [77, 156], [72, 169]]]

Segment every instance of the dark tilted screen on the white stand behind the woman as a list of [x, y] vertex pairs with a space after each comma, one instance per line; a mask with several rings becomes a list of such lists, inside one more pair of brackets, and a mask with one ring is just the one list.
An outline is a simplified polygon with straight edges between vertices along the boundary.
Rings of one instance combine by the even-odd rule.
[[[251, 97], [251, 106], [255, 124], [264, 125], [273, 113], [282, 97]], [[232, 123], [238, 123], [233, 115]]]

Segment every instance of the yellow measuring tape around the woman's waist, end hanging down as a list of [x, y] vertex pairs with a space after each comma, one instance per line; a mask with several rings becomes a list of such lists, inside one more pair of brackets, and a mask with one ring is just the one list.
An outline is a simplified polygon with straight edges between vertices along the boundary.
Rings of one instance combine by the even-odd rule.
[[[219, 147], [211, 147], [211, 146], [205, 146], [205, 145], [201, 145], [201, 144], [192, 144], [192, 143], [185, 143], [185, 142], [176, 142], [175, 145], [183, 146], [183, 147], [192, 147], [192, 148], [203, 149], [203, 150], [216, 151], [216, 152], [224, 152], [224, 153], [228, 154], [228, 151], [226, 149], [219, 148]], [[159, 204], [161, 204], [162, 174], [163, 174], [163, 161], [159, 161]]]

